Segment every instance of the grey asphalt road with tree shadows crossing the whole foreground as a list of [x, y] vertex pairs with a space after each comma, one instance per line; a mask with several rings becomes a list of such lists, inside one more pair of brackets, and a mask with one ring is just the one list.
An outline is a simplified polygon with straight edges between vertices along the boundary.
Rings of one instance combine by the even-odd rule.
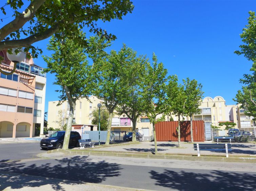
[[[38, 158], [39, 153], [49, 158]], [[57, 179], [52, 183], [55, 190], [59, 190], [66, 180], [150, 190], [251, 191], [256, 188], [254, 163], [59, 156], [56, 153], [53, 157], [45, 153], [40, 150], [39, 143], [1, 144], [0, 185], [2, 182], [4, 187], [0, 186], [0, 190], [9, 186], [21, 189], [50, 184], [39, 176]], [[1, 172], [17, 175], [10, 180]], [[18, 174], [38, 178], [27, 181]]]

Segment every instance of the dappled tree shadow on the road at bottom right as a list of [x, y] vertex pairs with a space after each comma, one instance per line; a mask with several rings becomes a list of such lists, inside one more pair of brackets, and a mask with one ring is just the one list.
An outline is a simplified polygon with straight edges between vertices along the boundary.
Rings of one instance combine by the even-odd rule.
[[256, 188], [255, 174], [235, 173], [229, 171], [211, 171], [195, 173], [185, 171], [164, 170], [163, 173], [150, 171], [151, 179], [157, 186], [167, 189], [185, 190], [254, 190]]

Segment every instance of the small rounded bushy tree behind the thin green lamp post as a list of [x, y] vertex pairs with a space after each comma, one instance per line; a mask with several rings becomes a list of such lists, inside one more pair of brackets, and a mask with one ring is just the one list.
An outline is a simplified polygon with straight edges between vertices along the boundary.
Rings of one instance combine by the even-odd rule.
[[[99, 130], [99, 108], [94, 109], [92, 112], [93, 119], [92, 124], [98, 125]], [[106, 106], [102, 106], [100, 108], [100, 130], [106, 131], [108, 127], [108, 121], [109, 121], [109, 111], [107, 110]]]

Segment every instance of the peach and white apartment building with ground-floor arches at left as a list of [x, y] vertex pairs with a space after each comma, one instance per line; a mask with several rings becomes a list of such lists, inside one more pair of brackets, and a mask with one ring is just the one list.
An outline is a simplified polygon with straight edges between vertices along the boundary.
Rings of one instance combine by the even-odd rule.
[[[14, 63], [0, 51], [5, 72]], [[17, 63], [12, 75], [0, 76], [0, 137], [33, 137], [43, 134], [46, 76], [33, 59]], [[37, 129], [36, 129], [37, 127]], [[38, 131], [37, 131], [38, 130]], [[39, 132], [40, 130], [40, 132]]]

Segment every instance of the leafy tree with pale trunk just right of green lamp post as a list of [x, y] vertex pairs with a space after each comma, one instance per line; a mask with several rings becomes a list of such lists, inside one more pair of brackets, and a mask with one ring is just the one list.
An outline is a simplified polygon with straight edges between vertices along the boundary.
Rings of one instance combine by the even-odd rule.
[[105, 144], [109, 144], [113, 112], [126, 91], [126, 84], [123, 80], [125, 79], [123, 75], [123, 71], [126, 70], [125, 63], [129, 61], [133, 54], [131, 54], [132, 49], [125, 45], [118, 53], [112, 50], [110, 54], [102, 51], [103, 48], [108, 46], [108, 42], [105, 44], [104, 42], [95, 43], [94, 40], [92, 45], [93, 47], [100, 47], [94, 48], [94, 50], [101, 50], [101, 56], [91, 54], [94, 60], [94, 70], [97, 71], [97, 74], [100, 73], [97, 75], [98, 84], [94, 94], [104, 100], [104, 104], [109, 111], [109, 126], [105, 142]]

